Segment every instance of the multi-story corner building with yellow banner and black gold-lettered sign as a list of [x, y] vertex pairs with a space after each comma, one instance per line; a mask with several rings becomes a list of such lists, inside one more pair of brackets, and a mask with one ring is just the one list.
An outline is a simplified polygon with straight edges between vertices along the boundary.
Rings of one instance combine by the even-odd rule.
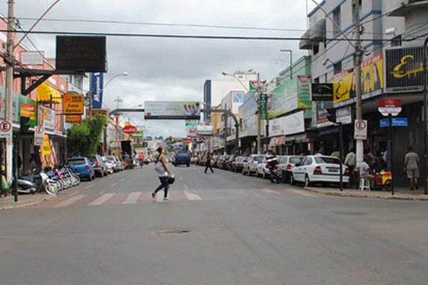
[[[302, 36], [300, 48], [312, 56], [312, 83], [333, 83], [333, 100], [312, 103], [312, 118], [317, 129], [315, 150], [330, 154], [338, 147], [337, 127], [327, 120], [327, 108], [334, 108], [344, 125], [345, 151], [354, 145], [355, 118], [355, 1], [324, 0], [308, 14], [310, 28]], [[421, 103], [422, 43], [428, 26], [428, 1], [359, 0], [362, 58], [362, 112], [368, 120], [365, 149], [379, 154], [387, 149], [387, 129], [377, 111], [379, 98], [399, 98], [401, 117], [409, 126], [397, 128], [394, 145], [395, 173], [401, 173], [407, 145], [422, 155], [423, 114]], [[416, 50], [403, 49], [419, 46]], [[406, 57], [410, 56], [410, 57]], [[398, 69], [397, 69], [398, 68]], [[400, 69], [401, 68], [401, 69]], [[398, 74], [401, 73], [404, 76]], [[389, 165], [391, 167], [391, 165]], [[400, 176], [400, 175], [397, 175]], [[405, 177], [398, 177], [404, 182]]]

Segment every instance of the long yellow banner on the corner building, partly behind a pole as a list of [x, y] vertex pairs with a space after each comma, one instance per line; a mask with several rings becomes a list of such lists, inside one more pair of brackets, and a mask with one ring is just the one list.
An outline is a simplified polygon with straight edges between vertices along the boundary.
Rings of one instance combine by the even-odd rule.
[[[361, 63], [362, 98], [372, 98], [382, 93], [383, 56], [382, 53]], [[353, 103], [355, 100], [355, 68], [342, 71], [333, 77], [333, 103], [335, 107]]]

